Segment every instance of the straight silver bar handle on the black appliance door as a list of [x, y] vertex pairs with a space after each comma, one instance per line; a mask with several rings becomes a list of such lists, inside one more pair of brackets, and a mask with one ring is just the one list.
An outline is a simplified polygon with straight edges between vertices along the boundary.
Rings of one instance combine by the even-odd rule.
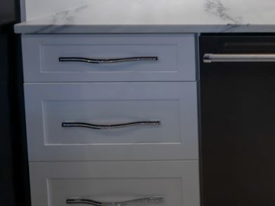
[[205, 53], [203, 63], [225, 63], [225, 62], [275, 62], [275, 54], [248, 54], [248, 53], [232, 53], [217, 54]]

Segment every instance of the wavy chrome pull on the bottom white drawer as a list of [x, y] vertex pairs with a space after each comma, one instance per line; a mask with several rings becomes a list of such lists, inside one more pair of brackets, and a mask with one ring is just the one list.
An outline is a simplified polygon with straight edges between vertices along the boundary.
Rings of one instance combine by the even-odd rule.
[[130, 205], [141, 205], [148, 203], [160, 204], [164, 201], [163, 197], [152, 197], [152, 198], [139, 198], [134, 200], [127, 200], [122, 202], [98, 202], [96, 200], [89, 200], [84, 198], [69, 198], [66, 200], [67, 204], [88, 204], [94, 206], [130, 206]]

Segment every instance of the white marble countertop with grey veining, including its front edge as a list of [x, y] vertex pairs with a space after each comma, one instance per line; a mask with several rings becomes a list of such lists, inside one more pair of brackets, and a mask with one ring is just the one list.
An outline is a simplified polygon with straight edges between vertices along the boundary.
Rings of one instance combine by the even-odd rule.
[[17, 33], [275, 32], [274, 0], [89, 0]]

